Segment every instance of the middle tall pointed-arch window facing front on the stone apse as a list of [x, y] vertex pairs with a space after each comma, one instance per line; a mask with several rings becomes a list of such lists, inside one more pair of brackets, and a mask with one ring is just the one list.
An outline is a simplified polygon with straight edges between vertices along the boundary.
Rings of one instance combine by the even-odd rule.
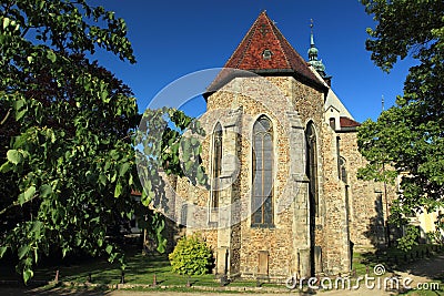
[[252, 226], [273, 225], [273, 125], [262, 115], [253, 126]]

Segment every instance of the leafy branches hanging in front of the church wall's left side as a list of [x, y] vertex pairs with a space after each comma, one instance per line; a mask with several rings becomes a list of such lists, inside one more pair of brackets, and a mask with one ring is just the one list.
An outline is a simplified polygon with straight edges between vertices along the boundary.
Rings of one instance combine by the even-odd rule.
[[[142, 212], [147, 216], [139, 222], [157, 238], [158, 251], [163, 253], [167, 239], [162, 235], [164, 220], [161, 214], [171, 214], [169, 208], [167, 175], [186, 177], [194, 185], [208, 186], [208, 175], [201, 164], [202, 146], [199, 137], [205, 135], [199, 121], [172, 108], [147, 109], [142, 114], [134, 136], [135, 163], [141, 182]], [[164, 174], [162, 174], [162, 172]], [[180, 196], [179, 196], [180, 197]], [[154, 215], [147, 215], [148, 206], [153, 205]], [[139, 211], [140, 211], [139, 210]]]

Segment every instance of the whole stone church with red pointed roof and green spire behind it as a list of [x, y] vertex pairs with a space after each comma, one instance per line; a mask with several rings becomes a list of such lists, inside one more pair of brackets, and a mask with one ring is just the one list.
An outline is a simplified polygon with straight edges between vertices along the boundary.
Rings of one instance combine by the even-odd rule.
[[263, 11], [209, 86], [210, 188], [176, 180], [174, 215], [212, 247], [216, 275], [344, 274], [353, 248], [385, 244], [395, 192], [357, 180], [360, 123], [331, 85], [313, 31], [305, 60]]

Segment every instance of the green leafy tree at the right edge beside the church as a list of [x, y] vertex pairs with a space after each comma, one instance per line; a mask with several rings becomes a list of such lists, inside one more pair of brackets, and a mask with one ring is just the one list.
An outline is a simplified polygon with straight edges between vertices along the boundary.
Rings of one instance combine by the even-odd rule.
[[[442, 0], [362, 0], [376, 27], [367, 29], [372, 60], [390, 71], [411, 55], [404, 93], [376, 122], [359, 129], [359, 146], [369, 160], [361, 177], [390, 181], [400, 173], [402, 195], [392, 218], [443, 206], [444, 196], [444, 2]], [[383, 167], [384, 166], [384, 167]], [[384, 169], [384, 170], [383, 170]], [[391, 170], [387, 170], [391, 169]]]

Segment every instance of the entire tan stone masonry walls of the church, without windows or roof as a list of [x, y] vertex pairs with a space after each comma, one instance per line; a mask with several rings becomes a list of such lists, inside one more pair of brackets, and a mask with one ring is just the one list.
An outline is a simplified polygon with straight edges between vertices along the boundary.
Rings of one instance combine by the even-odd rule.
[[[228, 184], [220, 193], [220, 204], [226, 208], [209, 210], [211, 192], [191, 186], [185, 178], [178, 180], [180, 202], [175, 208], [176, 221], [188, 224], [186, 233], [199, 232], [211, 245], [218, 274], [226, 272], [230, 276], [251, 278], [266, 274], [269, 278], [285, 278], [294, 273], [304, 275], [310, 267], [317, 274], [346, 273], [351, 266], [350, 241], [355, 247], [381, 241], [381, 227], [372, 228], [381, 214], [375, 203], [375, 187], [381, 184], [356, 178], [357, 167], [364, 165], [356, 133], [336, 133], [324, 121], [324, 95], [294, 78], [272, 76], [238, 78], [208, 98], [208, 111], [200, 119], [206, 129], [206, 136], [201, 141], [202, 164], [209, 173], [212, 132], [220, 122], [223, 127], [221, 178]], [[269, 228], [251, 225], [252, 127], [261, 114], [270, 118], [274, 129], [274, 226]], [[302, 133], [309, 122], [313, 122], [316, 133], [320, 211], [314, 218], [312, 243], [307, 181], [303, 180], [304, 136], [299, 142], [292, 142], [296, 137], [289, 136], [294, 119], [300, 122]], [[346, 182], [340, 177], [339, 155], [346, 161]], [[290, 174], [297, 172], [292, 169], [294, 160], [303, 167], [299, 172], [302, 183], [297, 186]], [[184, 202], [189, 205], [186, 211], [181, 211]], [[314, 249], [311, 251], [310, 244], [316, 251], [312, 255]]]

